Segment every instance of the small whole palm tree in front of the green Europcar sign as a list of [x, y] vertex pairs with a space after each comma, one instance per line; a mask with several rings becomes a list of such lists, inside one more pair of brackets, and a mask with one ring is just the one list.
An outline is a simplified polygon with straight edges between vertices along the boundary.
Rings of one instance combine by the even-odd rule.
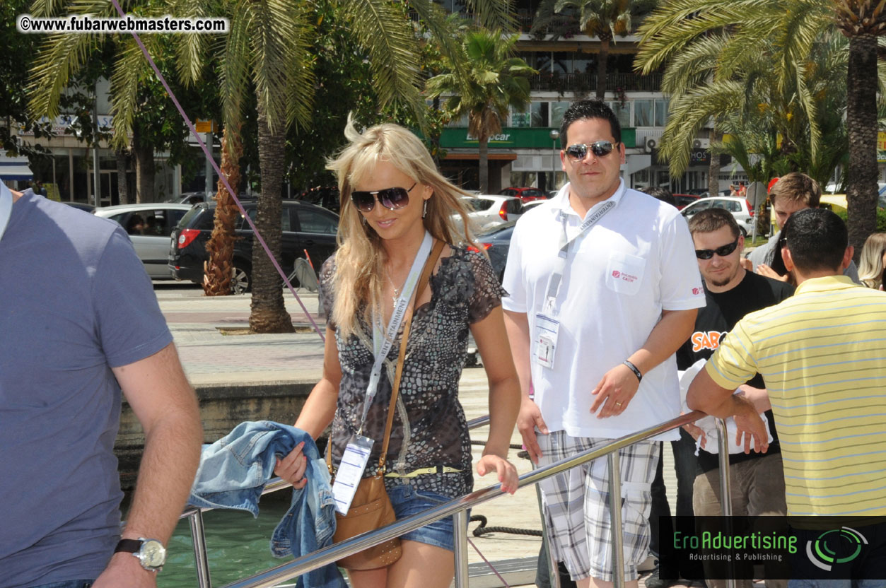
[[454, 119], [468, 115], [468, 132], [479, 144], [480, 191], [489, 186], [489, 137], [501, 133], [510, 108], [525, 110], [529, 104], [529, 76], [536, 74], [521, 58], [511, 57], [520, 35], [480, 29], [464, 36], [464, 75], [457, 74], [448, 58], [449, 72], [427, 81], [430, 97], [449, 95], [447, 110]]

